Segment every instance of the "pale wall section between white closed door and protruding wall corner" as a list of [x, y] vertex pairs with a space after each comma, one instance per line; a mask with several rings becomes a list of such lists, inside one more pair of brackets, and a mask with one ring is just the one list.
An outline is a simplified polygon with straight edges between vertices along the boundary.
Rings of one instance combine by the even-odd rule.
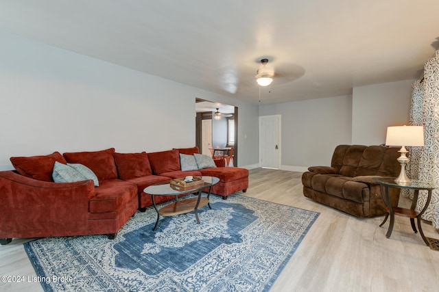
[[329, 165], [335, 146], [351, 144], [351, 96], [261, 105], [259, 116], [282, 116], [282, 161], [285, 170], [304, 171]]

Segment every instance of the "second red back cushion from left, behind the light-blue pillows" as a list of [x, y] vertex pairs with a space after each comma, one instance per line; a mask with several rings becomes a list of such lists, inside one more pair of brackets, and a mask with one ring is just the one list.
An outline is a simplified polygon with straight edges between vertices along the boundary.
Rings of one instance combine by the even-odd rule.
[[81, 163], [90, 168], [99, 181], [117, 178], [117, 168], [112, 154], [115, 148], [99, 151], [65, 152], [64, 158], [68, 163]]

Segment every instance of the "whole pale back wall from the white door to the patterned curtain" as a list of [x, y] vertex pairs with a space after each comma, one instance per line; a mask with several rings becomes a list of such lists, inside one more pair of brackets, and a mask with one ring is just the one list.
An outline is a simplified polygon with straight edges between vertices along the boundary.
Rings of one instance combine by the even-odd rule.
[[284, 170], [330, 165], [335, 146], [379, 145], [388, 126], [407, 124], [412, 80], [353, 88], [353, 96], [261, 105], [260, 116], [282, 116]]

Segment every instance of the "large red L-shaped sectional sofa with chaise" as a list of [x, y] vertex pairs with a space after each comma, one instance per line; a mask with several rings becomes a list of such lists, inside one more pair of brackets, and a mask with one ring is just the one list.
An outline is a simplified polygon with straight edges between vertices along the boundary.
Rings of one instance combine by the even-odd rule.
[[[70, 235], [108, 235], [119, 229], [140, 209], [152, 205], [143, 189], [170, 178], [217, 176], [212, 194], [224, 199], [248, 188], [248, 170], [222, 167], [182, 171], [180, 153], [193, 155], [198, 148], [152, 153], [117, 153], [115, 148], [88, 152], [54, 152], [34, 157], [11, 157], [15, 170], [0, 172], [0, 243], [12, 238]], [[54, 183], [54, 164], [85, 165], [95, 181]], [[74, 164], [73, 164], [74, 165]], [[161, 196], [159, 202], [174, 196]]]

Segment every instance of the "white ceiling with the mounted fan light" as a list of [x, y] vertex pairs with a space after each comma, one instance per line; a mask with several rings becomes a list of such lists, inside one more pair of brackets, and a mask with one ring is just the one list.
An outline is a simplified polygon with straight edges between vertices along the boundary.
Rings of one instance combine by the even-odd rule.
[[261, 103], [417, 78], [438, 15], [438, 0], [0, 0], [3, 31], [252, 103], [262, 57], [277, 76]]

